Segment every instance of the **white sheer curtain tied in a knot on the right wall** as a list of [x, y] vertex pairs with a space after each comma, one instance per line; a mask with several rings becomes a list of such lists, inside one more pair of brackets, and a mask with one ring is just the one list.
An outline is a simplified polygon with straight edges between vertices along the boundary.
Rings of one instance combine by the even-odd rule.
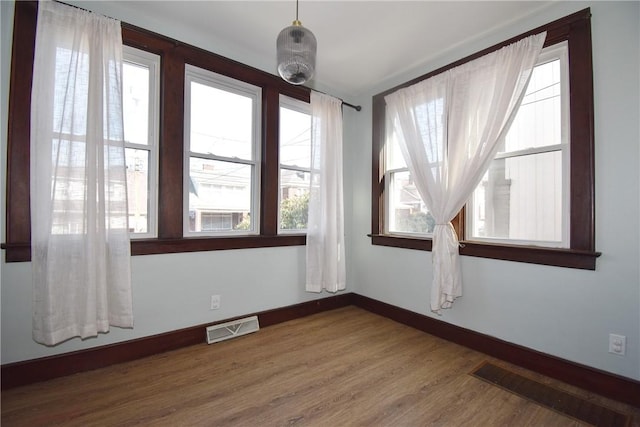
[[494, 158], [522, 100], [546, 33], [385, 97], [409, 171], [433, 215], [431, 310], [462, 295], [451, 220]]

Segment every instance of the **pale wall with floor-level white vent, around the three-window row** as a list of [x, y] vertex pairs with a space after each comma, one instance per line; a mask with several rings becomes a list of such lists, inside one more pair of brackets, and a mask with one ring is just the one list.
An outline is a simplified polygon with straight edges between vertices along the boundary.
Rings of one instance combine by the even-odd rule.
[[[118, 2], [115, 2], [118, 3]], [[107, 6], [107, 3], [96, 3]], [[13, 3], [0, 1], [2, 170], [6, 176], [6, 123]], [[106, 12], [105, 12], [106, 13]], [[115, 13], [111, 16], [115, 16]], [[143, 26], [141, 20], [127, 22]], [[157, 27], [157, 25], [156, 25]], [[157, 30], [157, 28], [156, 28]], [[190, 34], [172, 36], [194, 43]], [[2, 188], [2, 241], [5, 240], [5, 186]], [[2, 363], [29, 360], [136, 339], [189, 326], [326, 297], [306, 293], [305, 249], [263, 248], [132, 257], [135, 326], [112, 328], [97, 338], [73, 339], [55, 347], [31, 339], [31, 264], [5, 263], [2, 255]], [[347, 291], [349, 291], [347, 286]], [[220, 310], [209, 309], [210, 296], [222, 297]], [[204, 330], [202, 332], [204, 339]]]

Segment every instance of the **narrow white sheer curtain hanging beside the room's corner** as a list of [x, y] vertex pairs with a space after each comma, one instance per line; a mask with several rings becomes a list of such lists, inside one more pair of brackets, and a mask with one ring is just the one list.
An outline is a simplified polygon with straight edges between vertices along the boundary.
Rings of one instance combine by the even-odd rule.
[[345, 289], [342, 197], [342, 101], [312, 91], [307, 291]]

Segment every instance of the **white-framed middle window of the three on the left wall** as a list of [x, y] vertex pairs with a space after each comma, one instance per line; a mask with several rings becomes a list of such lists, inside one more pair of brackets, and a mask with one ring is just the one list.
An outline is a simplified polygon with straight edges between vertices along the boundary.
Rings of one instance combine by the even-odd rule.
[[[185, 235], [259, 230], [260, 95], [256, 86], [187, 65]], [[229, 221], [211, 226], [203, 215]]]

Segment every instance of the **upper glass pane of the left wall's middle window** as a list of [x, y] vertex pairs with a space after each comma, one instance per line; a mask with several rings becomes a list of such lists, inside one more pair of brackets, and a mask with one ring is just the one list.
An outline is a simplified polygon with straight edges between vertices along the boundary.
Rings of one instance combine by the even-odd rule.
[[191, 152], [253, 160], [252, 122], [252, 98], [191, 82]]

